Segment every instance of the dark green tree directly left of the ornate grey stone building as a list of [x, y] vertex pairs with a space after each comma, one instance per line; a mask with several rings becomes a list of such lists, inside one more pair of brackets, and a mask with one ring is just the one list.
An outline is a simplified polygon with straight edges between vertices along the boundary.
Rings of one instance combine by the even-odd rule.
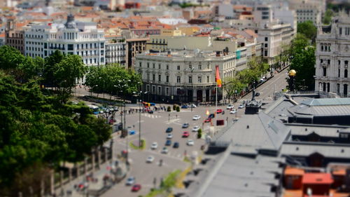
[[[307, 46], [300, 53], [295, 53], [293, 60], [290, 62], [290, 69], [295, 69], [296, 90], [314, 90], [314, 74], [315, 74], [315, 48]], [[303, 86], [307, 86], [304, 88]]]

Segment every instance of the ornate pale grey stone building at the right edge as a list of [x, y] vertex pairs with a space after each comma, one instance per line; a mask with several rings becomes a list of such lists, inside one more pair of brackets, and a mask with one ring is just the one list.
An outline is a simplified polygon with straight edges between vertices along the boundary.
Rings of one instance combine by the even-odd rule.
[[316, 37], [315, 90], [349, 95], [348, 66], [350, 18], [347, 15], [332, 20], [329, 27], [318, 27]]

